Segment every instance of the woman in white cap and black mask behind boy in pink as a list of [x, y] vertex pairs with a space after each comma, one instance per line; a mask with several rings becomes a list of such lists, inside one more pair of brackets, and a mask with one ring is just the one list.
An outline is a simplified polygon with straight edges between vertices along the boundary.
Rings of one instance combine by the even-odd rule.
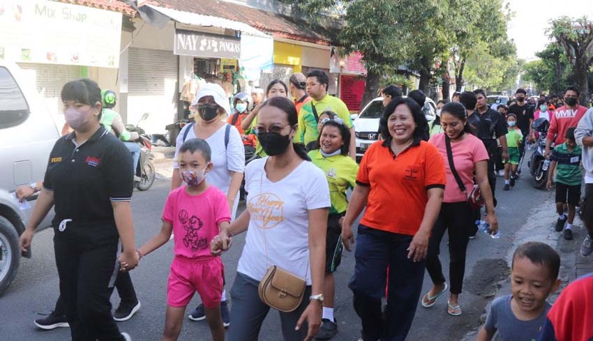
[[[231, 217], [234, 218], [237, 214], [239, 188], [241, 188], [245, 169], [245, 149], [243, 149], [239, 130], [226, 123], [226, 118], [230, 114], [230, 103], [220, 85], [208, 83], [200, 87], [192, 104], [195, 105], [200, 117], [196, 117], [195, 123], [188, 124], [179, 132], [174, 160], [177, 160], [177, 154], [183, 142], [196, 137], [206, 140], [212, 151], [213, 165], [211, 172], [208, 173], [208, 182], [227, 193]], [[181, 185], [177, 162], [173, 162], [172, 178], [171, 190], [174, 190]], [[223, 291], [220, 311], [223, 315], [223, 324], [225, 327], [229, 326], [225, 291]], [[198, 305], [188, 318], [193, 321], [205, 319], [204, 306]]]

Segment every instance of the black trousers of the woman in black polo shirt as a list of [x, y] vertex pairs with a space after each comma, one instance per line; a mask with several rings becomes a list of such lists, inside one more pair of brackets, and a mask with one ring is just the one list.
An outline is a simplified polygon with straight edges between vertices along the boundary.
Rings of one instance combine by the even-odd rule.
[[[109, 227], [104, 227], [109, 228]], [[54, 250], [60, 295], [73, 341], [123, 341], [111, 315], [117, 271], [117, 235], [93, 238], [93, 231], [56, 230]]]

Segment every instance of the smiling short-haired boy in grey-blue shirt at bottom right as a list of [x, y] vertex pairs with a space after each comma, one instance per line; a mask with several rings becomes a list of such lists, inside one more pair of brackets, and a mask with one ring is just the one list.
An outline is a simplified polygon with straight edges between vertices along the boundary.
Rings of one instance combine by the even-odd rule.
[[560, 256], [549, 245], [528, 242], [513, 255], [513, 294], [496, 298], [477, 341], [490, 341], [498, 332], [500, 341], [535, 341], [552, 307], [546, 301], [560, 280]]

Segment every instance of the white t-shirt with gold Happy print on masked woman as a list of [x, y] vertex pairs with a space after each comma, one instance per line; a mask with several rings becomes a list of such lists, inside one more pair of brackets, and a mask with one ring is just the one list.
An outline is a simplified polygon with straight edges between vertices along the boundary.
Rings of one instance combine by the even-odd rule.
[[267, 159], [254, 160], [246, 168], [250, 220], [237, 271], [259, 281], [268, 266], [276, 265], [310, 285], [308, 211], [331, 204], [325, 174], [303, 161], [273, 183], [264, 172]]

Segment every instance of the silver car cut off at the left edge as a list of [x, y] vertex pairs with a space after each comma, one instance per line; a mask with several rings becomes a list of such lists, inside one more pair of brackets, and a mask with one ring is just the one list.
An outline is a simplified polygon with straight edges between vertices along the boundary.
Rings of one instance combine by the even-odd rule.
[[[20, 68], [0, 61], [0, 294], [13, 281], [20, 263], [18, 238], [34, 200], [19, 204], [16, 188], [43, 180], [47, 158], [59, 132], [34, 89], [27, 89]], [[52, 214], [48, 214], [50, 217]], [[50, 225], [46, 218], [40, 229]], [[24, 252], [31, 257], [31, 251]]]

